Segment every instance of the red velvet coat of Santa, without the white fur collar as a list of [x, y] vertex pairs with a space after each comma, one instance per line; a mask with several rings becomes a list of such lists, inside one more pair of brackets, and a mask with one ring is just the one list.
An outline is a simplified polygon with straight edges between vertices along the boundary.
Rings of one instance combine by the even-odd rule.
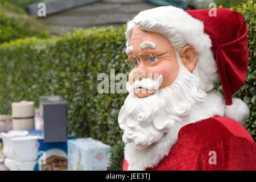
[[[123, 159], [123, 170], [128, 166]], [[256, 144], [240, 123], [211, 117], [181, 127], [169, 154], [150, 170], [256, 170]]]

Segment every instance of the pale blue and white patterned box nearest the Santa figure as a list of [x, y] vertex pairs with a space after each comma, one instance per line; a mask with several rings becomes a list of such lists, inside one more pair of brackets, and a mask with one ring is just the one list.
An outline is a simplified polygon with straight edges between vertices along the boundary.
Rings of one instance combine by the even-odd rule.
[[68, 140], [69, 171], [105, 171], [109, 166], [110, 146], [92, 138]]

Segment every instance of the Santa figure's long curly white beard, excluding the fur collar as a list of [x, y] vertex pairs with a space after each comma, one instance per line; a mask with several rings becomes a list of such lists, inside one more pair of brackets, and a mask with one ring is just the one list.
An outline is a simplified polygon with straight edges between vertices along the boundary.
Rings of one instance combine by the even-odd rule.
[[130, 90], [118, 115], [123, 142], [133, 142], [137, 150], [158, 142], [164, 133], [183, 122], [192, 105], [203, 103], [206, 97], [199, 79], [184, 67], [170, 86], [151, 96], [139, 98]]

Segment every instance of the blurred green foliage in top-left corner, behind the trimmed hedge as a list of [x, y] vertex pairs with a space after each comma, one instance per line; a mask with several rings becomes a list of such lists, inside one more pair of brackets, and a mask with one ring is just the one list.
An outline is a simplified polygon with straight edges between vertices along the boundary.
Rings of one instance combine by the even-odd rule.
[[48, 32], [38, 19], [28, 16], [23, 9], [8, 2], [0, 3], [0, 44], [31, 36], [47, 38]]

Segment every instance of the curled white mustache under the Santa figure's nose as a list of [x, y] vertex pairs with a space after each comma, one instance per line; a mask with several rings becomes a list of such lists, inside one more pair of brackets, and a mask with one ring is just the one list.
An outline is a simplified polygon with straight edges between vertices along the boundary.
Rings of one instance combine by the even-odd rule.
[[159, 86], [162, 84], [163, 77], [160, 75], [158, 77], [158, 80], [153, 80], [151, 77], [148, 78], [142, 78], [142, 80], [136, 80], [133, 85], [130, 84], [129, 81], [126, 83], [126, 89], [130, 93], [131, 91], [138, 89], [138, 88], [144, 88], [144, 89], [150, 89], [150, 90], [156, 90], [159, 88]]

